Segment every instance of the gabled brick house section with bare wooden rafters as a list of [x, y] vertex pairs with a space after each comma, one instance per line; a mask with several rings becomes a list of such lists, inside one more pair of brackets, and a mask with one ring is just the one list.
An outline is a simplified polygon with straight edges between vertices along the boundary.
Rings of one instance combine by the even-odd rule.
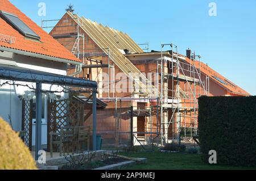
[[[77, 31], [77, 22], [79, 22], [79, 31]], [[110, 37], [107, 33], [115, 30], [112, 28], [105, 29], [100, 25], [94, 27], [92, 23], [94, 22], [85, 18], [77, 19], [76, 15], [67, 12], [49, 34], [84, 62], [85, 65], [79, 77], [96, 81], [101, 87], [98, 89], [98, 99], [105, 102], [107, 106], [105, 110], [98, 110], [97, 134], [101, 134], [104, 138], [104, 144], [118, 145], [120, 142], [127, 145], [130, 144], [131, 116], [129, 111], [131, 106], [136, 112], [137, 103], [142, 103], [142, 105], [149, 103], [148, 98], [144, 100], [140, 98], [145, 98], [145, 95], [148, 95], [149, 91], [152, 90], [146, 89], [147, 85], [150, 84], [149, 80], [125, 57], [124, 49], [133, 52], [143, 52], [143, 50], [126, 33], [113, 32], [118, 33], [117, 37]], [[104, 28], [106, 34], [98, 28]], [[115, 38], [120, 39], [119, 43], [114, 40]], [[75, 70], [75, 67], [69, 66], [68, 73], [73, 74]], [[127, 77], [130, 73], [136, 75], [130, 77], [129, 80]], [[102, 74], [109, 75], [109, 77], [104, 78]], [[141, 78], [144, 82], [140, 80]], [[133, 85], [130, 87], [127, 85], [125, 90], [121, 90], [117, 88], [118, 82], [119, 84], [133, 82]], [[142, 89], [146, 92], [142, 92]], [[154, 117], [156, 117], [156, 113]], [[89, 117], [86, 123], [92, 124], [91, 121], [92, 117]], [[136, 136], [136, 116], [133, 124], [133, 131]], [[152, 134], [150, 135], [152, 136]]]

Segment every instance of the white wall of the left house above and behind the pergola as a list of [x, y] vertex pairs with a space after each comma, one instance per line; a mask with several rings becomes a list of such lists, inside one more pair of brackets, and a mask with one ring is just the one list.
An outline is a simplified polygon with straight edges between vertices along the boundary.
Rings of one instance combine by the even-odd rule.
[[[10, 52], [0, 52], [0, 59], [15, 61], [20, 68], [27, 68], [32, 70], [45, 71], [48, 73], [55, 73], [59, 75], [67, 75], [67, 64], [60, 62], [53, 62], [43, 60], [40, 58], [33, 58]], [[7, 80], [0, 79], [0, 84], [5, 83]], [[21, 85], [29, 85], [36, 87], [35, 83], [30, 82], [15, 82]], [[42, 89], [49, 90], [51, 85], [42, 85]], [[61, 91], [62, 88], [52, 86], [52, 90]], [[28, 87], [24, 86], [10, 86], [4, 85], [0, 87], [0, 116], [7, 122], [13, 125], [14, 131], [22, 131], [22, 100], [19, 96], [24, 95], [25, 91], [31, 91]], [[64, 96], [64, 94], [59, 94]], [[47, 104], [45, 105], [47, 107]], [[47, 144], [47, 108], [45, 108], [45, 120], [42, 124], [42, 145]], [[9, 119], [10, 115], [10, 119]], [[35, 124], [32, 126], [32, 145], [35, 145]]]

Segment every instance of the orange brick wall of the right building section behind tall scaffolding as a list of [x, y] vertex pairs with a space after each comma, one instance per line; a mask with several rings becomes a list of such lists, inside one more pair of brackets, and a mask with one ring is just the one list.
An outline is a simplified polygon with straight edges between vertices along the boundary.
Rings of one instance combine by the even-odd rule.
[[[131, 60], [131, 62], [133, 62], [133, 64], [135, 66], [137, 66], [137, 68], [139, 70], [141, 70], [143, 73], [156, 73], [157, 72], [157, 61], [156, 59], [160, 58], [159, 56], [128, 56], [129, 59]], [[155, 60], [154, 60], [155, 59]], [[171, 74], [171, 69], [168, 69], [167, 68], [168, 65], [165, 64], [164, 65], [164, 69], [163, 71], [165, 73], [169, 73]], [[189, 76], [189, 71], [186, 71], [188, 69], [184, 69], [184, 75], [187, 75]], [[160, 72], [160, 70], [159, 70]], [[176, 72], [176, 69], [174, 70], [174, 72]], [[182, 71], [180, 71], [180, 74], [183, 74]], [[195, 78], [199, 79], [199, 77], [196, 75]], [[201, 73], [201, 80], [203, 82], [207, 82], [206, 81], [206, 76], [204, 73]], [[156, 81], [154, 79], [154, 81]], [[159, 77], [159, 82], [160, 82], [160, 77]], [[164, 90], [167, 90], [168, 89], [168, 96], [171, 98], [171, 95], [172, 95], [172, 91], [171, 90], [176, 90], [177, 89], [177, 81], [174, 81], [174, 87], [172, 87], [172, 80], [171, 78], [169, 79], [169, 82], [168, 84], [167, 83], [164, 83]], [[193, 99], [193, 94], [191, 93], [191, 90], [194, 91], [195, 90], [195, 96], [196, 98], [199, 98], [199, 96], [201, 95], [206, 95], [205, 91], [204, 91], [204, 87], [203, 85], [199, 86], [194, 86], [193, 83], [185, 83], [185, 82], [182, 82], [180, 81], [179, 82], [179, 85], [180, 85], [180, 89], [182, 89], [183, 91], [187, 92], [188, 94], [188, 98], [189, 99]], [[168, 88], [167, 88], [168, 87]], [[159, 89], [160, 91], [160, 89]], [[164, 92], [164, 94], [166, 94], [166, 92]], [[227, 95], [227, 91], [221, 87], [218, 83], [216, 83], [215, 81], [213, 81], [213, 79], [210, 78], [210, 96], [225, 96]], [[181, 99], [181, 104], [180, 104], [181, 107], [194, 107], [195, 106], [195, 102], [194, 100], [185, 100], [185, 99]], [[168, 124], [168, 121], [170, 121], [171, 117], [173, 115], [173, 112], [171, 110], [168, 110], [167, 113], [164, 113], [164, 116], [163, 116], [163, 122], [165, 123], [165, 125]], [[181, 116], [178, 116], [177, 113], [174, 114], [174, 120], [175, 120], [175, 124], [170, 124], [170, 126], [168, 127], [168, 137], [171, 138], [172, 135], [173, 135], [173, 130], [174, 130], [174, 134], [176, 136], [177, 134], [177, 128], [178, 128], [178, 121], [180, 120], [181, 122], [181, 127], [185, 127], [185, 128], [193, 128], [195, 127], [195, 120], [197, 120], [197, 112], [195, 113], [194, 111], [188, 111], [187, 112], [181, 112]], [[153, 119], [155, 120], [155, 123], [156, 123], [156, 119]], [[160, 120], [160, 117], [159, 117], [159, 120]], [[146, 119], [146, 121], [148, 121], [148, 119]], [[157, 125], [156, 124], [153, 124], [153, 127], [154, 129], [157, 128]]]

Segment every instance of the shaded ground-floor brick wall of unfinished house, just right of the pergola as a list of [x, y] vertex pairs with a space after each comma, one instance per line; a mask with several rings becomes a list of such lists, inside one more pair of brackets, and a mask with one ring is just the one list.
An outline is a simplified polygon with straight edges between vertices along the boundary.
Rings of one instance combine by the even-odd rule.
[[[116, 105], [116, 109], [115, 109]], [[131, 106], [137, 106], [134, 102], [118, 100], [109, 102], [105, 110], [97, 110], [97, 134], [103, 138], [104, 146], [116, 145], [116, 138], [119, 138], [119, 145], [129, 145], [130, 141], [130, 111]], [[86, 110], [85, 113], [88, 113]], [[92, 126], [92, 115], [85, 121], [85, 125]], [[117, 136], [117, 124], [119, 132]], [[134, 132], [137, 132], [137, 119], [134, 117]]]

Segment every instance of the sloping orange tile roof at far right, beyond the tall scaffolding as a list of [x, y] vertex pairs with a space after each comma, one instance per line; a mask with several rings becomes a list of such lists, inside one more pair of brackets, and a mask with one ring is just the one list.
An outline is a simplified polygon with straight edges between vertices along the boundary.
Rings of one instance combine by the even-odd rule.
[[[191, 60], [186, 57], [186, 62], [190, 64]], [[208, 75], [213, 81], [218, 83], [218, 85], [221, 85], [226, 89], [229, 94], [231, 95], [241, 95], [241, 96], [250, 96], [248, 92], [243, 90], [241, 87], [237, 86], [233, 82], [229, 81], [229, 79], [226, 79], [221, 74], [217, 73], [217, 71], [210, 68], [208, 65], [204, 64], [204, 62], [195, 61], [196, 68], [199, 69], [201, 66], [201, 72], [203, 72], [205, 75]], [[223, 83], [221, 83], [221, 82]]]

